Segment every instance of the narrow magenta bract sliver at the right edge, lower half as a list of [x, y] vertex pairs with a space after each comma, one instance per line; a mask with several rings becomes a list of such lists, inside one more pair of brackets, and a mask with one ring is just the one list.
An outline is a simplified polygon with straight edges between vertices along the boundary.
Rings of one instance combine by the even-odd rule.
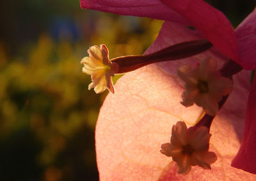
[[235, 168], [256, 173], [256, 79], [247, 103], [246, 120], [244, 125], [241, 147], [232, 161]]

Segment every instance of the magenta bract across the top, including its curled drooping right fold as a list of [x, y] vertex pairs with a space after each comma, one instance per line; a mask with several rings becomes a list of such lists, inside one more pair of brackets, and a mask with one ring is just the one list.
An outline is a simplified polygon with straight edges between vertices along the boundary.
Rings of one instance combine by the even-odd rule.
[[[82, 8], [120, 15], [151, 17], [191, 25], [221, 52], [238, 61], [236, 35], [222, 12], [202, 0], [92, 1], [81, 0]], [[184, 22], [185, 20], [185, 22]]]

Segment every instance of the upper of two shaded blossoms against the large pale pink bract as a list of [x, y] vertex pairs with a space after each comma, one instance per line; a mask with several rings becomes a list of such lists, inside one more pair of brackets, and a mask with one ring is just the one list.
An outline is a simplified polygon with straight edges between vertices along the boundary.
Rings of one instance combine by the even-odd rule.
[[193, 70], [188, 66], [181, 67], [178, 75], [185, 81], [181, 104], [188, 107], [195, 103], [203, 107], [211, 116], [218, 112], [218, 102], [223, 95], [232, 91], [232, 81], [221, 77], [220, 71], [216, 70], [216, 61], [213, 59], [205, 59]]

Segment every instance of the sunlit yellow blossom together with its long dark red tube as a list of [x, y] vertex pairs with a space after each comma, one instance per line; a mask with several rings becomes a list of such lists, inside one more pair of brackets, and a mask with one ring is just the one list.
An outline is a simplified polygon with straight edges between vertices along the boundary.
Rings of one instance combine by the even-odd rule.
[[212, 43], [207, 40], [196, 40], [178, 43], [153, 54], [122, 56], [109, 60], [107, 47], [100, 45], [100, 48], [90, 47], [88, 50], [90, 57], [83, 58], [81, 63], [84, 64], [83, 72], [92, 75], [89, 90], [94, 88], [96, 93], [101, 93], [108, 88], [109, 91], [115, 93], [111, 79], [115, 74], [131, 72], [151, 63], [186, 58], [204, 52], [211, 47]]

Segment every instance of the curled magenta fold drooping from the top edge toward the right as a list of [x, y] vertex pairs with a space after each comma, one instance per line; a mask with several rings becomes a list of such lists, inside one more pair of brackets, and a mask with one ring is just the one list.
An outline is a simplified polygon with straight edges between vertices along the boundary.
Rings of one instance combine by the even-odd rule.
[[238, 63], [234, 29], [225, 15], [202, 0], [161, 0], [189, 20], [217, 49]]

